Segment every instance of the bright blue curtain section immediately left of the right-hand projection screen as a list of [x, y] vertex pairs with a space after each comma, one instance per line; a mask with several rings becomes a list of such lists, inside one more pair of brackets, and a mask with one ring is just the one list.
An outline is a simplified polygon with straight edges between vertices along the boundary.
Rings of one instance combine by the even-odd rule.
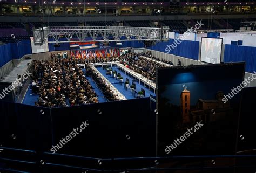
[[[176, 45], [177, 47], [175, 47]], [[169, 49], [169, 47], [167, 46], [171, 47], [171, 49]], [[174, 39], [170, 39], [167, 42], [159, 42], [156, 45], [149, 47], [149, 49], [165, 52], [169, 54], [174, 54], [176, 56], [190, 58], [194, 60], [198, 60], [198, 56], [199, 56], [198, 41], [184, 40], [184, 41], [181, 41], [181, 43], [179, 43], [179, 41], [176, 41], [176, 43], [174, 43]]]

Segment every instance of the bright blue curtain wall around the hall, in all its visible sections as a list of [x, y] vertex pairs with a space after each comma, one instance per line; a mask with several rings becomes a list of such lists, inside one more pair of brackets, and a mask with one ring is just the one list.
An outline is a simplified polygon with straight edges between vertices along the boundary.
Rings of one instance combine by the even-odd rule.
[[[63, 38], [62, 38], [63, 39]], [[122, 38], [123, 39], [123, 38]], [[121, 39], [121, 40], [122, 40]], [[178, 43], [178, 44], [177, 44]], [[122, 41], [122, 45], [116, 45], [116, 42], [110, 42], [112, 47], [124, 48], [144, 47], [143, 41]], [[156, 45], [148, 47], [151, 50], [174, 54], [176, 56], [198, 60], [199, 42], [198, 41], [179, 41], [174, 42], [170, 39], [167, 42], [159, 42]], [[18, 51], [17, 51], [18, 50]], [[69, 43], [62, 43], [60, 47], [54, 47], [53, 43], [49, 43], [49, 51], [70, 50]], [[19, 59], [25, 54], [31, 54], [30, 40], [19, 41], [18, 43], [9, 43], [0, 46], [0, 67], [8, 63], [12, 59]], [[246, 72], [253, 73], [256, 71], [256, 47], [225, 45], [224, 62], [246, 61]]]

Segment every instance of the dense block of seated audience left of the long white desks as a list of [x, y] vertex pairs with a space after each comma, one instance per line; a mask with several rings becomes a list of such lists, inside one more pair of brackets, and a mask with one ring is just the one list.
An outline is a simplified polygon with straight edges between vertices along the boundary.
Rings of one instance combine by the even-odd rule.
[[97, 95], [76, 64], [78, 60], [34, 62], [32, 91], [39, 94], [36, 106], [63, 107], [97, 103]]

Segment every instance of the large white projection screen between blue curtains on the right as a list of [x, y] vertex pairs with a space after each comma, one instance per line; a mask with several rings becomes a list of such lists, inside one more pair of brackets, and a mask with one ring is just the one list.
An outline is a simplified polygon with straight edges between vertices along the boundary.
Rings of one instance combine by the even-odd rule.
[[210, 64], [220, 63], [222, 38], [202, 37], [200, 61]]

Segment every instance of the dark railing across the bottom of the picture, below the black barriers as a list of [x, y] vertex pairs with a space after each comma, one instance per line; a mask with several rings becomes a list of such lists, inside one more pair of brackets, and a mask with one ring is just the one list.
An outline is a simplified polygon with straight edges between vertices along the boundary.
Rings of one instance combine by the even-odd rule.
[[[10, 149], [10, 150], [14, 150], [14, 151], [26, 151], [29, 153], [36, 153], [36, 151], [32, 151], [32, 150], [23, 150], [23, 149], [16, 149], [16, 148], [9, 148], [9, 147], [0, 147], [3, 149]], [[83, 165], [72, 165], [72, 164], [64, 164], [64, 163], [54, 163], [54, 160], [52, 160], [52, 158], [50, 159], [50, 161], [46, 161], [44, 160], [44, 165], [45, 166], [50, 166], [50, 167], [59, 167], [59, 169], [65, 169], [65, 168], [73, 168], [73, 169], [80, 169], [80, 170], [91, 170], [91, 171], [104, 171], [104, 172], [121, 172], [121, 171], [139, 171], [139, 172], [144, 172], [144, 171], [154, 171], [154, 170], [205, 170], [205, 169], [211, 169], [211, 170], [216, 170], [216, 169], [234, 169], [234, 168], [256, 168], [256, 165], [253, 164], [252, 162], [250, 164], [244, 164], [244, 165], [190, 165], [190, 167], [183, 167], [183, 165], [177, 165], [176, 167], [161, 167], [159, 165], [156, 166], [156, 163], [154, 161], [158, 160], [165, 160], [165, 162], [170, 162], [173, 159], [187, 159], [190, 158], [191, 160], [193, 158], [256, 158], [256, 155], [203, 155], [203, 156], [198, 156], [198, 155], [193, 155], [193, 156], [166, 156], [166, 157], [121, 157], [121, 158], [95, 158], [95, 157], [86, 157], [86, 156], [76, 156], [76, 155], [69, 155], [69, 154], [58, 154], [58, 153], [49, 153], [49, 152], [43, 152], [41, 154], [38, 154], [38, 156], [42, 156], [43, 158], [45, 158], [46, 160], [48, 160], [49, 157], [51, 156], [62, 156], [62, 158], [64, 157], [69, 157], [70, 158], [78, 158], [78, 159], [85, 159], [85, 160], [100, 160], [100, 161], [108, 161], [104, 163], [104, 167], [96, 167], [93, 168], [85, 168], [83, 167]], [[58, 158], [58, 161], [61, 160], [62, 158]], [[38, 169], [42, 169], [40, 163], [38, 163], [37, 161], [23, 161], [21, 159], [19, 160], [14, 160], [14, 159], [10, 159], [10, 158], [3, 158], [0, 157], [0, 160], [2, 161], [13, 161], [13, 162], [19, 162], [19, 163], [25, 163], [25, 164], [36, 164], [38, 166]], [[81, 161], [81, 164], [83, 163]], [[147, 168], [138, 168], [140, 167], [139, 165], [137, 165], [137, 168], [135, 167], [127, 167], [126, 164], [123, 164], [123, 169], [122, 168], [114, 168], [114, 162], [116, 161], [144, 161], [142, 162], [143, 165], [145, 165], [144, 163], [148, 163], [145, 161], [150, 161], [150, 160], [154, 160], [152, 162], [149, 162], [149, 167]], [[192, 160], [193, 161], [193, 160]], [[119, 165], [120, 163], [118, 163]], [[89, 164], [90, 165], [90, 164]], [[105, 167], [106, 166], [106, 167]], [[36, 167], [37, 168], [37, 167]], [[98, 169], [97, 169], [98, 168]], [[3, 169], [3, 168], [2, 168]], [[48, 168], [49, 169], [49, 168]], [[0, 168], [1, 170], [1, 168]]]

